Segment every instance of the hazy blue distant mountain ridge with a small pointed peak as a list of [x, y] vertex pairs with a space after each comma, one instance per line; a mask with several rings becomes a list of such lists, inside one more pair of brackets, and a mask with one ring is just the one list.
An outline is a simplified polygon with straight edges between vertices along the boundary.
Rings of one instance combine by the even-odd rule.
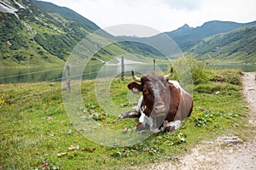
[[[177, 30], [170, 31], [170, 32], [163, 32], [153, 37], [131, 37], [131, 39], [134, 41], [137, 41], [138, 38], [147, 39], [149, 42], [161, 43], [160, 42], [161, 37], [164, 37], [165, 35], [167, 35], [168, 37], [171, 37], [174, 42], [177, 43], [177, 46], [181, 48], [181, 50], [184, 53], [188, 54], [192, 52], [191, 48], [195, 48], [197, 44], [204, 41], [204, 39], [207, 37], [212, 37], [214, 35], [219, 35], [219, 34], [228, 34], [230, 31], [235, 31], [238, 28], [243, 28], [246, 26], [256, 26], [256, 21], [252, 21], [248, 23], [236, 23], [233, 21], [212, 20], [204, 23], [202, 26], [197, 26], [195, 28], [190, 27], [187, 24], [184, 24], [183, 26], [177, 28]], [[253, 32], [252, 34], [256, 34], [256, 32]], [[232, 39], [229, 39], [229, 40], [232, 41]], [[243, 44], [247, 46], [251, 46], [250, 44], [246, 44], [246, 43], [243, 43]], [[253, 44], [256, 46], [255, 42]], [[212, 48], [212, 47], [208, 47], [208, 48]], [[198, 52], [200, 51], [200, 49], [198, 48], [196, 51]], [[230, 48], [230, 51], [234, 51], [234, 49]], [[203, 59], [198, 56], [199, 54], [200, 53], [195, 54], [194, 55], [195, 58]], [[189, 54], [189, 56], [191, 55]], [[171, 58], [176, 59], [175, 56]]]

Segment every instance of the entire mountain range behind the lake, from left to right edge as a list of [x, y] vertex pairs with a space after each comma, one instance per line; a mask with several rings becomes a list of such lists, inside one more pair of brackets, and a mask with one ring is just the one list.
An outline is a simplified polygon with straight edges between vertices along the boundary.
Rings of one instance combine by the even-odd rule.
[[[175, 54], [180, 51], [162, 41], [166, 36], [172, 37], [183, 52], [193, 54], [197, 59], [234, 57], [251, 62], [255, 59], [255, 25], [256, 21], [241, 24], [213, 20], [195, 28], [185, 24], [175, 31], [154, 37], [125, 37], [124, 42], [112, 43], [99, 50], [91, 62], [108, 61], [120, 54], [160, 58], [163, 56], [160, 51], [165, 50], [166, 53], [171, 51], [169, 54], [176, 59]], [[95, 23], [73, 10], [53, 3], [0, 0], [0, 66], [64, 65], [73, 48], [88, 34], [99, 29]], [[102, 37], [119, 40], [119, 37], [101, 31], [96, 41], [102, 42]], [[154, 48], [156, 44], [160, 51]]]

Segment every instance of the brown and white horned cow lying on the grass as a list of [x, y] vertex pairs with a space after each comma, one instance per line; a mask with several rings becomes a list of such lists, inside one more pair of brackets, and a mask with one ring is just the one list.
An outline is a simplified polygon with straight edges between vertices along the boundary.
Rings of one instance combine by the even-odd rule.
[[[133, 111], [128, 111], [119, 116], [139, 117], [137, 130], [149, 130], [154, 133], [174, 132], [181, 122], [191, 115], [193, 99], [177, 81], [169, 80], [172, 69], [166, 76], [150, 73], [147, 76], [137, 77], [134, 71], [131, 75], [135, 82], [130, 82], [127, 87], [135, 94], [143, 92]], [[139, 82], [139, 83], [138, 83]]]

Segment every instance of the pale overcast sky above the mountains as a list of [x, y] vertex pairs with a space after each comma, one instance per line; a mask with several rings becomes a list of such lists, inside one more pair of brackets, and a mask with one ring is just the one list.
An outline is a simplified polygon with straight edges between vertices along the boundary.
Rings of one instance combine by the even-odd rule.
[[[42, 0], [41, 0], [42, 1]], [[188, 24], [201, 26], [210, 20], [240, 23], [256, 20], [255, 0], [43, 0], [73, 9], [102, 29], [132, 25], [145, 34], [173, 31]], [[125, 30], [125, 29], [123, 29]], [[129, 30], [129, 29], [126, 29]], [[140, 31], [142, 32], [142, 31]], [[134, 32], [111, 32], [125, 35]], [[137, 35], [148, 37], [152, 35]]]

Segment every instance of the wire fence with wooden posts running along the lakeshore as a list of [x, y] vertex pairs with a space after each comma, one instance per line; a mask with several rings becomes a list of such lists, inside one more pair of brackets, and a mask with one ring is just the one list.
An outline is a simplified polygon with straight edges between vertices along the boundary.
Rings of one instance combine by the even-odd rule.
[[[131, 70], [129, 70], [129, 67], [131, 69], [131, 65], [125, 65], [125, 59], [124, 59], [124, 57], [121, 57], [120, 65], [117, 65], [117, 67], [121, 68], [120, 69], [120, 78], [121, 78], [121, 80], [124, 80], [124, 77], [125, 77], [125, 66], [128, 68], [127, 71], [131, 71]], [[84, 67], [84, 65], [72, 65], [72, 66], [71, 65], [66, 65], [66, 75], [65, 75], [66, 79], [65, 80], [67, 81], [67, 92], [70, 92], [72, 90], [71, 87], [70, 87], [70, 81], [76, 79], [77, 77], [84, 77], [85, 76], [87, 78], [89, 77], [89, 79], [92, 79], [92, 78], [96, 78], [96, 75], [99, 74], [100, 72], [105, 72], [105, 71], [99, 71], [98, 68], [102, 67], [102, 65], [96, 64], [96, 65], [89, 65], [89, 67], [94, 68], [94, 69], [92, 69], [93, 71], [89, 70], [87, 72], [83, 72], [82, 74], [81, 73], [80, 74], [71, 74], [72, 71], [75, 70], [77, 67]], [[148, 68], [148, 65], [145, 65], [145, 67]], [[155, 71], [155, 59], [154, 59], [154, 62], [153, 62], [153, 69], [152, 70]], [[3, 71], [3, 69], [2, 69], [2, 71]], [[55, 72], [55, 71], [57, 71], [57, 73], [55, 74], [55, 77], [54, 78], [48, 78], [48, 77], [50, 77], [52, 72]], [[20, 72], [19, 74], [0, 77], [0, 81], [1, 81], [1, 83], [17, 83], [17, 86], [15, 86], [15, 88], [24, 88], [24, 89], [26, 89], [28, 87], [38, 86], [42, 83], [47, 83], [47, 82], [61, 82], [61, 80], [63, 81], [63, 77], [62, 77], [63, 71], [64, 71], [63, 67], [60, 67], [60, 68], [55, 68], [55, 69], [43, 70], [43, 71], [30, 71], [30, 72], [25, 72], [25, 73]], [[19, 80], [21, 80], [22, 82], [26, 82], [26, 81], [24, 81], [24, 79], [22, 79], [22, 77], [38, 77], [38, 75], [41, 75], [41, 76], [45, 75], [46, 78], [43, 79], [43, 81], [40, 81], [39, 79], [36, 79], [36, 82], [27, 81], [27, 82], [31, 82], [29, 84], [18, 82]], [[15, 80], [15, 81], [11, 82], [11, 81], [8, 81], [8, 79]], [[0, 94], [11, 93], [13, 90], [15, 90], [15, 88], [1, 89], [1, 86], [0, 86]], [[61, 88], [61, 87], [59, 87], [59, 88]], [[38, 92], [35, 92], [35, 93], [32, 93], [32, 94], [26, 94], [26, 95], [23, 95], [23, 96], [20, 96], [20, 97], [9, 99], [9, 101], [13, 101], [15, 99], [26, 98], [26, 97], [31, 96], [31, 95], [44, 94], [46, 92], [50, 92], [50, 91], [53, 91], [53, 90], [56, 90], [56, 89], [58, 89], [58, 88], [51, 88], [51, 89], [46, 89], [44, 91], [38, 91]]]

